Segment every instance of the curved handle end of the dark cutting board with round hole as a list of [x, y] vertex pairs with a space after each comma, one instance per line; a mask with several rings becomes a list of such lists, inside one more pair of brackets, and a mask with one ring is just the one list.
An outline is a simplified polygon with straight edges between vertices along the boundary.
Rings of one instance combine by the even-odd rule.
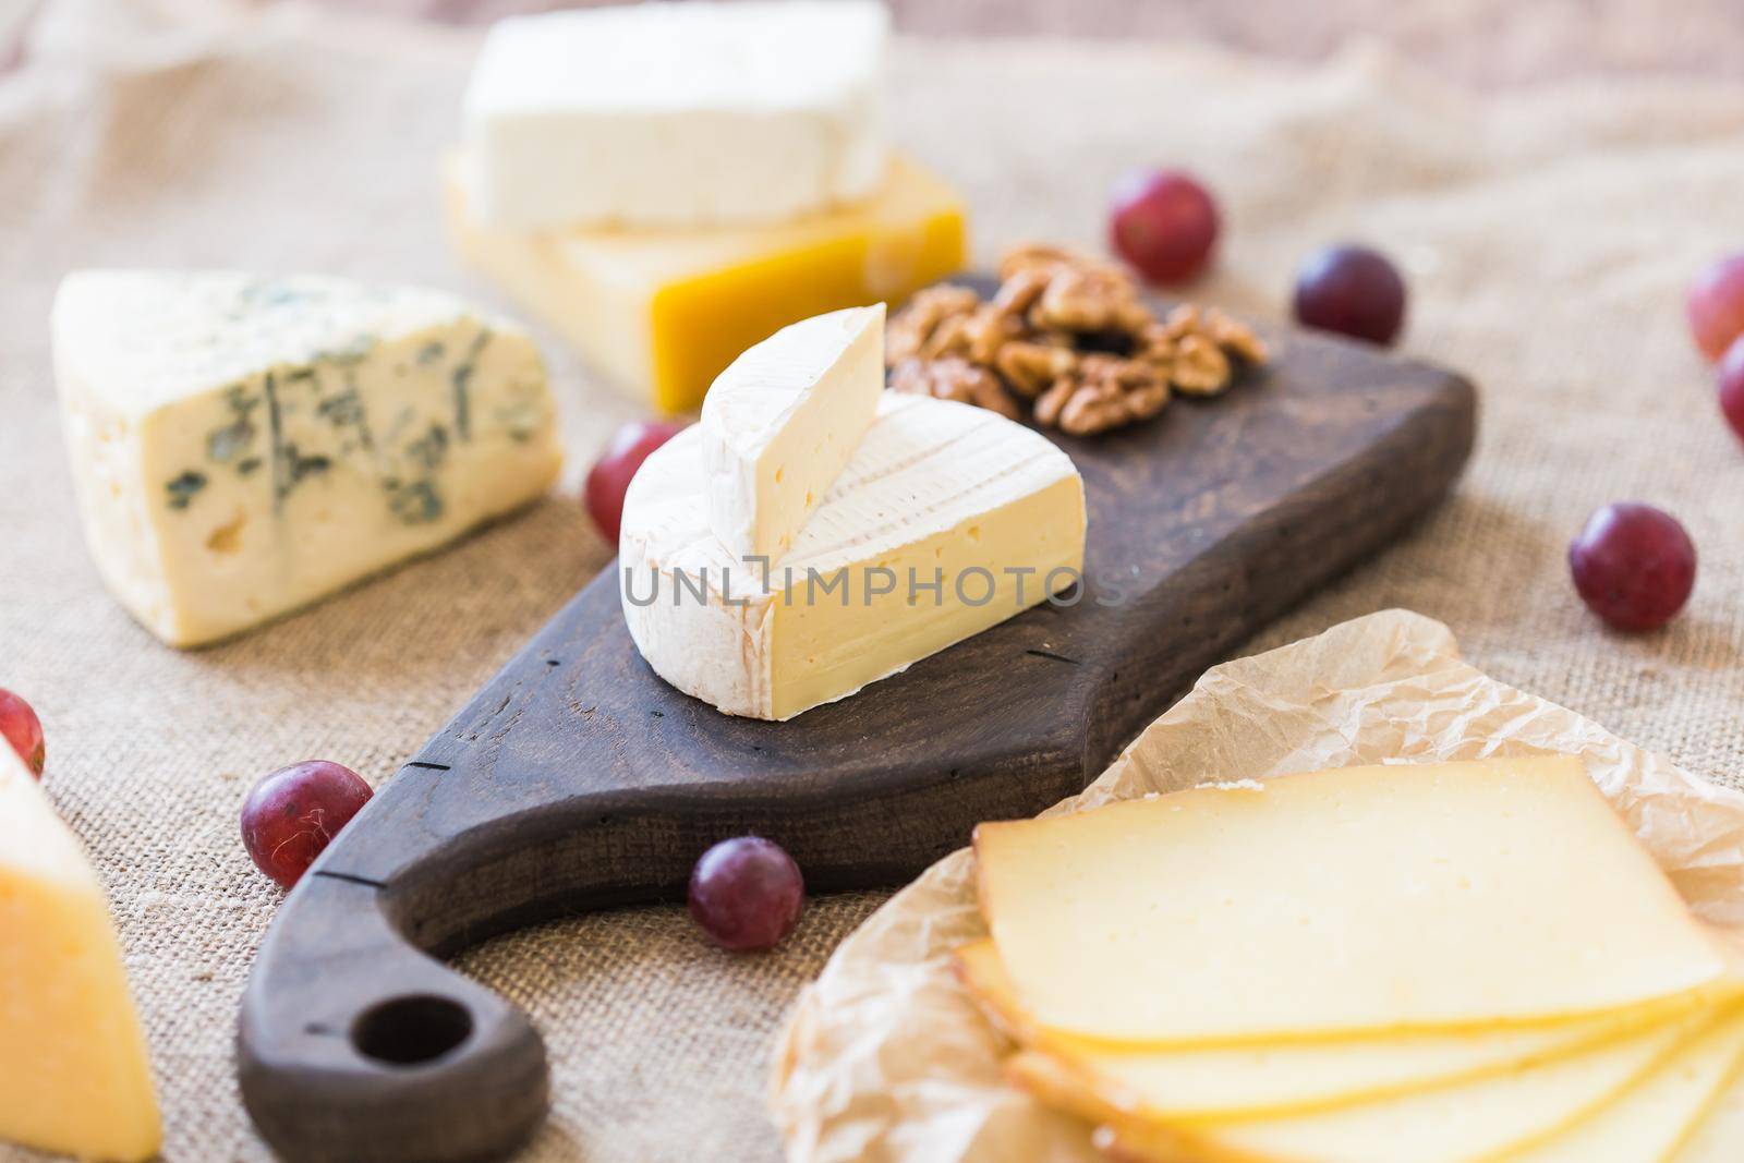
[[291, 900], [237, 1044], [249, 1114], [281, 1156], [483, 1160], [539, 1126], [549, 1071], [520, 1010], [415, 949], [371, 884], [309, 875]]

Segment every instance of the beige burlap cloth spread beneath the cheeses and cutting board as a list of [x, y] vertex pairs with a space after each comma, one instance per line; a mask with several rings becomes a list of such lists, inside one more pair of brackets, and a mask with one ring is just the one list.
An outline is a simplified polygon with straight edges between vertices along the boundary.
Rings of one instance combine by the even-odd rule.
[[[635, 408], [548, 345], [574, 457], [527, 516], [201, 654], [138, 629], [73, 516], [47, 350], [72, 267], [333, 270], [495, 300], [443, 249], [436, 167], [471, 33], [295, 12], [164, 31], [56, 0], [0, 77], [0, 685], [49, 736], [49, 788], [108, 884], [171, 1160], [256, 1160], [230, 1043], [279, 891], [249, 865], [249, 781], [305, 757], [378, 781], [609, 558], [574, 478]], [[1467, 657], [1681, 765], [1744, 772], [1744, 450], [1718, 418], [1681, 293], [1737, 246], [1744, 85], [1584, 82], [1474, 98], [1350, 47], [1285, 70], [1186, 47], [903, 42], [900, 139], [973, 202], [985, 258], [1095, 244], [1109, 181], [1184, 162], [1228, 227], [1198, 295], [1284, 314], [1294, 263], [1366, 239], [1406, 267], [1404, 349], [1482, 384], [1458, 497], [1256, 649], [1402, 605]], [[1601, 631], [1568, 586], [1587, 513], [1639, 497], [1702, 553], [1667, 631]], [[677, 908], [584, 917], [467, 954], [544, 1030], [555, 1111], [530, 1158], [767, 1160], [769, 1034], [879, 894], [813, 903], [766, 957]], [[21, 1158], [0, 1147], [0, 1160]]]

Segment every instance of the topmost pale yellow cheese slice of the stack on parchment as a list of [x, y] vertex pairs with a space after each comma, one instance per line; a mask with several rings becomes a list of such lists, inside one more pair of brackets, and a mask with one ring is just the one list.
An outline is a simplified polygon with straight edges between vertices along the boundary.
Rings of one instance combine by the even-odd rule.
[[1050, 1029], [1210, 1044], [1535, 1024], [1732, 989], [1568, 757], [1345, 767], [982, 825]]

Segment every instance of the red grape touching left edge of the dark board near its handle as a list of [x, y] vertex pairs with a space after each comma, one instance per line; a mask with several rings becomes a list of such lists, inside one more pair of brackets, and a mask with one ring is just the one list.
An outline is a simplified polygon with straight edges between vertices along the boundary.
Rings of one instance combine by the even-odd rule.
[[351, 767], [323, 758], [281, 767], [242, 800], [242, 846], [256, 868], [291, 888], [370, 795]]

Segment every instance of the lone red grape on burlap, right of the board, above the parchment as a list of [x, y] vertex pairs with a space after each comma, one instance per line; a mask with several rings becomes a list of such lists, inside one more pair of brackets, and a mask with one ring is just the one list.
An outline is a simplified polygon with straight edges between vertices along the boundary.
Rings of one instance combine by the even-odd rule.
[[1617, 629], [1659, 629], [1695, 588], [1695, 546], [1674, 516], [1608, 504], [1568, 547], [1580, 600]]

